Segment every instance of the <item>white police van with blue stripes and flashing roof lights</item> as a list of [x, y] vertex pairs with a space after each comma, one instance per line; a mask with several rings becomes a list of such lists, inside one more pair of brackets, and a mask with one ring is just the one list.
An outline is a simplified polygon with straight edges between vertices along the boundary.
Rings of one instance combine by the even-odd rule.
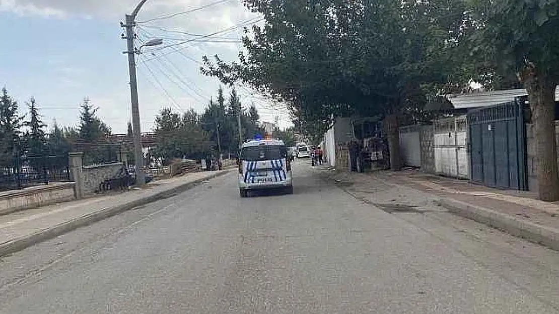
[[239, 195], [247, 197], [248, 191], [260, 189], [283, 189], [293, 194], [291, 160], [279, 139], [254, 139], [241, 146]]

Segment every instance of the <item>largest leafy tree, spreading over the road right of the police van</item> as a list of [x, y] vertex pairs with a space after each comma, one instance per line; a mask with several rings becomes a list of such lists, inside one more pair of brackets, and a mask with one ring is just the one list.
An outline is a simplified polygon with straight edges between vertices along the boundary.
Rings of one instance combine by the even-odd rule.
[[[237, 62], [205, 57], [202, 72], [240, 81], [290, 105], [296, 124], [318, 134], [335, 117], [384, 115], [391, 164], [397, 126], [423, 84], [468, 70], [449, 53], [463, 36], [461, 1], [245, 0], [266, 18], [243, 37]], [[453, 75], [451, 77], [451, 74]], [[465, 82], [459, 82], [463, 84]]]

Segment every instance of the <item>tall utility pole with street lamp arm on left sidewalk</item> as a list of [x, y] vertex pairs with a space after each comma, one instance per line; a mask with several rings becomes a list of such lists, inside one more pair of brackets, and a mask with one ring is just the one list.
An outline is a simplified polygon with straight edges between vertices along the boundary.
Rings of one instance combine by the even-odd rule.
[[122, 38], [126, 39], [127, 51], [124, 54], [128, 55], [128, 71], [130, 74], [130, 102], [132, 104], [132, 125], [134, 131], [134, 159], [136, 162], [136, 186], [145, 185], [145, 172], [144, 172], [144, 152], [141, 146], [141, 132], [140, 132], [140, 109], [138, 106], [138, 79], [136, 77], [136, 54], [140, 52], [142, 47], [153, 47], [163, 44], [163, 40], [154, 39], [146, 42], [140, 49], [134, 49], [134, 27], [136, 26], [136, 16], [140, 12], [141, 7], [148, 0], [141, 0], [138, 6], [134, 9], [132, 14], [126, 15], [126, 23], [121, 23], [121, 27], [126, 28], [126, 35]]

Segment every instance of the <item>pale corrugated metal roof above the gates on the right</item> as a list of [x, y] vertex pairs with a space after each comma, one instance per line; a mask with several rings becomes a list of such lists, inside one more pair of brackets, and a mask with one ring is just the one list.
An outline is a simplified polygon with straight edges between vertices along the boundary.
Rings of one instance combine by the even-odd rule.
[[[454, 108], [466, 109], [512, 102], [515, 97], [527, 94], [525, 89], [508, 89], [472, 94], [453, 94], [447, 95], [447, 98], [454, 105]], [[555, 90], [555, 100], [559, 100], [559, 88]]]

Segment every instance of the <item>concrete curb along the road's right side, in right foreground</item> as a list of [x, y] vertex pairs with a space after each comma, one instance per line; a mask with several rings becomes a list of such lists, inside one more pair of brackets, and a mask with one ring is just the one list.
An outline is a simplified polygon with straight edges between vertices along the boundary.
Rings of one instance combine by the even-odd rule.
[[553, 250], [559, 250], [559, 230], [538, 225], [531, 221], [518, 219], [498, 211], [474, 206], [466, 202], [453, 199], [439, 199], [435, 204], [448, 209], [453, 214], [468, 218], [530, 242], [544, 245]]

